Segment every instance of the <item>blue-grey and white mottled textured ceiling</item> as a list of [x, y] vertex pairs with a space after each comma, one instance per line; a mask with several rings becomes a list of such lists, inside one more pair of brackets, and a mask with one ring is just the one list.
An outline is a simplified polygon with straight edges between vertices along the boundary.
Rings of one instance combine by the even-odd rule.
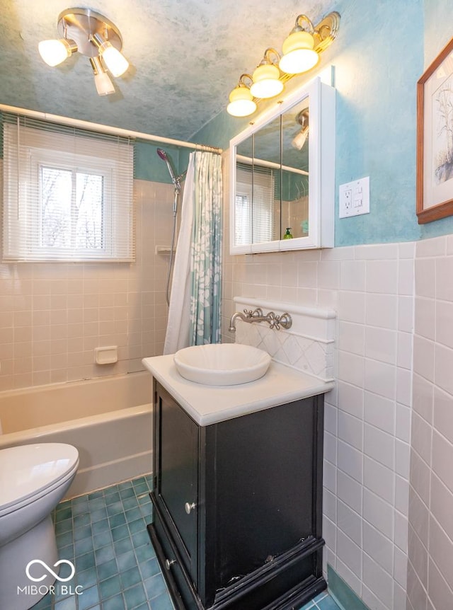
[[120, 29], [129, 71], [96, 93], [88, 59], [50, 68], [38, 42], [58, 38], [67, 0], [2, 0], [0, 103], [187, 140], [224, 110], [242, 72], [281, 50], [298, 14], [315, 22], [331, 0], [91, 0]]

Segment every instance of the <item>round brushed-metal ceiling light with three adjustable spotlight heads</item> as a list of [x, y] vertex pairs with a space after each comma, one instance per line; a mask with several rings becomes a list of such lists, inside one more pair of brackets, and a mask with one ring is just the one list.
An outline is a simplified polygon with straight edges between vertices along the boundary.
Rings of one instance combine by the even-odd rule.
[[113, 76], [121, 76], [129, 67], [116, 25], [91, 8], [67, 8], [59, 14], [57, 28], [61, 38], [42, 40], [38, 45], [45, 63], [57, 66], [78, 51], [90, 60], [99, 95], [115, 93], [104, 64]]

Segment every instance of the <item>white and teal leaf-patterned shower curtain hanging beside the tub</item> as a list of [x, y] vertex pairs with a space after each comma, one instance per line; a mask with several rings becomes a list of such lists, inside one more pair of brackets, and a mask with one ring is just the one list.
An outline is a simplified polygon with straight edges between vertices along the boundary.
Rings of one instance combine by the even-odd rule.
[[222, 159], [190, 154], [171, 284], [164, 354], [220, 342]]

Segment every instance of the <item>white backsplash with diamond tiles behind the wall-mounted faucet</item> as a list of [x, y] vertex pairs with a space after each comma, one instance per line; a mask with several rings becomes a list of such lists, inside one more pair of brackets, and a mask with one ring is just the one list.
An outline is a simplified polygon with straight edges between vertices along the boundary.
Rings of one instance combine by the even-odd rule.
[[276, 362], [314, 375], [324, 381], [333, 379], [333, 340], [336, 312], [331, 309], [235, 297], [236, 311], [260, 307], [266, 314], [289, 313], [292, 327], [270, 328], [265, 322], [236, 321], [236, 343], [253, 345], [268, 352]]

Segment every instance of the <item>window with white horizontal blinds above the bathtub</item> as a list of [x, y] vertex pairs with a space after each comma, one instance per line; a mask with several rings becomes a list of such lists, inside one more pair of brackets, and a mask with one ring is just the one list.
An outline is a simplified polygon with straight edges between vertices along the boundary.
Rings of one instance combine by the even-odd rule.
[[134, 260], [128, 139], [4, 115], [4, 260]]

